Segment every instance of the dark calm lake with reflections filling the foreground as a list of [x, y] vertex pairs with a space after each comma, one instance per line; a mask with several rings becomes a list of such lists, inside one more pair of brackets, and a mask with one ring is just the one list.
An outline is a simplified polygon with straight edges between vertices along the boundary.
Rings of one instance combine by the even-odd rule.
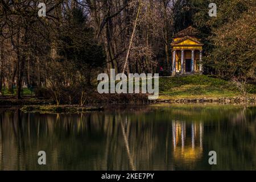
[[[256, 106], [106, 106], [83, 114], [0, 109], [0, 170], [255, 170]], [[46, 165], [38, 152], [46, 152]], [[217, 165], [210, 165], [216, 151]]]

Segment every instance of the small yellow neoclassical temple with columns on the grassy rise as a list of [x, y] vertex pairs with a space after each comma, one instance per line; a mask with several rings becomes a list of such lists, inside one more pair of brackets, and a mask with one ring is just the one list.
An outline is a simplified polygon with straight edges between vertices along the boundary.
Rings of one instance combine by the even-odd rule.
[[203, 45], [198, 38], [199, 32], [188, 27], [177, 32], [172, 47], [172, 75], [195, 75], [203, 73]]

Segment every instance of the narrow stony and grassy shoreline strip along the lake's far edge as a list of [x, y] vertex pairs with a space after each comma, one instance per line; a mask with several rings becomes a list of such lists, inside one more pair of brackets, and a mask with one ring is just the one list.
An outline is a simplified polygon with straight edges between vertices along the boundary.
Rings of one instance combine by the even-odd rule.
[[[27, 101], [25, 100], [5, 100], [6, 103], [12, 102], [11, 105], [2, 105], [0, 100], [0, 109], [13, 110], [20, 109], [24, 113], [40, 113], [40, 114], [74, 114], [74, 113], [88, 113], [95, 111], [108, 110], [108, 106], [139, 106], [139, 105], [155, 105], [155, 104], [172, 104], [172, 105], [183, 105], [183, 104], [220, 104], [220, 105], [256, 105], [256, 97], [202, 97], [202, 98], [169, 98], [169, 99], [158, 99], [148, 100], [148, 102], [101, 102], [101, 103], [89, 103], [85, 106], [80, 105], [55, 105], [50, 100], [36, 100]], [[16, 101], [16, 102], [15, 102]]]

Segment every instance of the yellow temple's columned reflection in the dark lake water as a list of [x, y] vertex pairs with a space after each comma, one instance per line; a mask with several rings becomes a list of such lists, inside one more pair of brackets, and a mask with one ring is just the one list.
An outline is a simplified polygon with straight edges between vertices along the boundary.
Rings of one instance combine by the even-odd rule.
[[175, 162], [195, 162], [203, 156], [202, 122], [172, 121], [172, 142]]

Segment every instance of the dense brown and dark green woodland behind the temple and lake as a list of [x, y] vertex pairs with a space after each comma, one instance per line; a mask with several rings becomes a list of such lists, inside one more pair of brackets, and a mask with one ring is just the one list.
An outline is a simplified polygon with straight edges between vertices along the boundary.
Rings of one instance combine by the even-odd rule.
[[[84, 102], [98, 73], [170, 75], [172, 37], [193, 26], [204, 43], [204, 72], [243, 85], [256, 78], [256, 3], [216, 0], [0, 1], [0, 94], [23, 85], [59, 104]], [[126, 66], [125, 66], [126, 65]], [[38, 92], [39, 92], [38, 91]]]

